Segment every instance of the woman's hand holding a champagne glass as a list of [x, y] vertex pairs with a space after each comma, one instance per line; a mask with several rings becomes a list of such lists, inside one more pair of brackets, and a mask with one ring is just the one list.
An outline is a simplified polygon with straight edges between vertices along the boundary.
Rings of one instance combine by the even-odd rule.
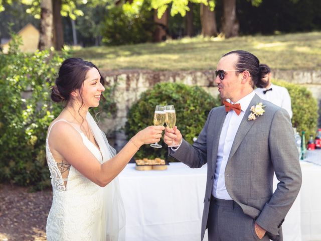
[[159, 142], [164, 130], [164, 126], [149, 126], [138, 132], [135, 138], [140, 145]]

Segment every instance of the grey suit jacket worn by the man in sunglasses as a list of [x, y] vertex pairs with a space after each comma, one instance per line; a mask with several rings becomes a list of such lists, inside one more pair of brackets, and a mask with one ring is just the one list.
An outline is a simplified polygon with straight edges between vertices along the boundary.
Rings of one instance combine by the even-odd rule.
[[[262, 102], [265, 112], [248, 121], [250, 108]], [[197, 141], [183, 139], [169, 155], [191, 168], [207, 165], [207, 182], [202, 218], [203, 240], [209, 213], [219, 138], [226, 116], [224, 106], [213, 108]], [[282, 109], [255, 95], [236, 133], [225, 169], [225, 185], [243, 212], [267, 230], [272, 240], [282, 240], [281, 224], [300, 186], [301, 169], [290, 117]], [[279, 180], [273, 193], [273, 174]]]

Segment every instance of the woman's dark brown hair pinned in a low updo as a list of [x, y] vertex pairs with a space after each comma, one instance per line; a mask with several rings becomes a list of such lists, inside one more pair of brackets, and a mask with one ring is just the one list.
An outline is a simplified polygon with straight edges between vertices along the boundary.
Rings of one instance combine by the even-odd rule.
[[[51, 99], [55, 102], [68, 102], [70, 100], [70, 93], [76, 89], [80, 90], [81, 96], [86, 74], [91, 68], [98, 70], [100, 83], [105, 85], [106, 81], [96, 65], [81, 58], [66, 59], [59, 69], [55, 85], [51, 88]], [[105, 100], [103, 95], [101, 95], [101, 98]]]

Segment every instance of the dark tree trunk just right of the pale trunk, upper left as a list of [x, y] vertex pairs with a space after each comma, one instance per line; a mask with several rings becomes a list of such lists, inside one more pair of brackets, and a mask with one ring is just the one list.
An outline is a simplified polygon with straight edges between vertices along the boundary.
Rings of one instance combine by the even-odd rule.
[[64, 46], [64, 31], [60, 10], [61, 0], [53, 0], [54, 46], [56, 50], [61, 50]]

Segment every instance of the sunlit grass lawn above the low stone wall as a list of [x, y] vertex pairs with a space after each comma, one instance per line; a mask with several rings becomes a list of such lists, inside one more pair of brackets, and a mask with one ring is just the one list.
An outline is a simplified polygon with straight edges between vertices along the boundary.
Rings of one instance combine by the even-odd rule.
[[207, 70], [232, 50], [255, 54], [261, 63], [280, 70], [321, 70], [321, 32], [230, 39], [184, 38], [163, 43], [89, 47], [74, 57], [92, 61], [104, 70]]

